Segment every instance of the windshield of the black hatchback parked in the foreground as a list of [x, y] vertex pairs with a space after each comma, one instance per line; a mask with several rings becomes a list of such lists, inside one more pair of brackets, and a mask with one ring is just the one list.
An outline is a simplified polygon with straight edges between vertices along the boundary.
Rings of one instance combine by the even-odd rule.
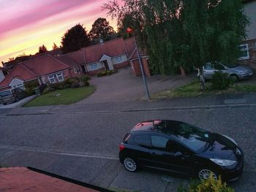
[[[170, 132], [169, 132], [170, 131]], [[189, 125], [187, 123], [171, 123], [169, 133], [172, 134], [179, 142], [182, 142], [188, 148], [194, 151], [204, 150], [211, 146], [211, 132]]]

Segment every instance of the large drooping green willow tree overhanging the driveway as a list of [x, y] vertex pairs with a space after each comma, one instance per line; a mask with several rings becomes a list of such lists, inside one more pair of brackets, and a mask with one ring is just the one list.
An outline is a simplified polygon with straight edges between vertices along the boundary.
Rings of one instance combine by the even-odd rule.
[[153, 72], [171, 74], [180, 66], [198, 67], [208, 61], [233, 63], [246, 38], [241, 0], [123, 0], [104, 4], [124, 28], [134, 20], [140, 46], [150, 57]]

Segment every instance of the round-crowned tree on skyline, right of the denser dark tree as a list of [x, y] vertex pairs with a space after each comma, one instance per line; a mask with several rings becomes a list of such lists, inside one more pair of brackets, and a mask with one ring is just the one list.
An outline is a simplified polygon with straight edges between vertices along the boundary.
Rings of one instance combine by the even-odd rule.
[[98, 18], [94, 21], [90, 31], [91, 39], [99, 39], [103, 40], [110, 39], [111, 35], [116, 34], [113, 27], [109, 25], [109, 22], [105, 18]]

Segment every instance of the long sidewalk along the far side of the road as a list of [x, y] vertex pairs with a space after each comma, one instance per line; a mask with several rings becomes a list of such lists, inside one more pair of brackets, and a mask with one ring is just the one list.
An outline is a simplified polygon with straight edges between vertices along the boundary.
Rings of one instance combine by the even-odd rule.
[[45, 107], [18, 107], [0, 110], [0, 115], [48, 115], [87, 112], [129, 112], [147, 110], [187, 110], [211, 107], [250, 107], [256, 105], [256, 93], [208, 95], [158, 101], [123, 101], [101, 104], [71, 104]]

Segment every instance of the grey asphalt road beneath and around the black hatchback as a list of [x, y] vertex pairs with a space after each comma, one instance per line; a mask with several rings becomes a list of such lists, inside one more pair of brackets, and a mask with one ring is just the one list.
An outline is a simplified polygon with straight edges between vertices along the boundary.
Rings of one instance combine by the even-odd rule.
[[245, 153], [244, 174], [230, 185], [256, 188], [256, 107], [0, 116], [0, 164], [34, 166], [112, 189], [176, 191], [187, 180], [162, 172], [126, 172], [117, 161], [124, 134], [140, 120], [173, 119], [226, 134]]

